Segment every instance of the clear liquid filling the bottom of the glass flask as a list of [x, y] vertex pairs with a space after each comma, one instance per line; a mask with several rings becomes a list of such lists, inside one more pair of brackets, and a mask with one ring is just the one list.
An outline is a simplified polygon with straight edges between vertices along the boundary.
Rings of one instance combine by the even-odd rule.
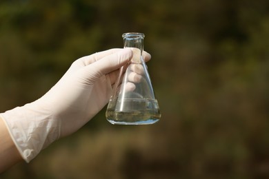
[[126, 99], [110, 100], [106, 118], [112, 124], [146, 125], [156, 123], [161, 118], [156, 100]]

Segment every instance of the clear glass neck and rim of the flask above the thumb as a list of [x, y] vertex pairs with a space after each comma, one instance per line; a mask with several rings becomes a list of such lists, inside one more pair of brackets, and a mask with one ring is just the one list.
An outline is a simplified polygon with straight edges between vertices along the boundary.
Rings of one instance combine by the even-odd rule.
[[142, 33], [125, 33], [122, 35], [124, 48], [137, 48], [141, 54], [143, 52], [143, 39], [145, 37]]

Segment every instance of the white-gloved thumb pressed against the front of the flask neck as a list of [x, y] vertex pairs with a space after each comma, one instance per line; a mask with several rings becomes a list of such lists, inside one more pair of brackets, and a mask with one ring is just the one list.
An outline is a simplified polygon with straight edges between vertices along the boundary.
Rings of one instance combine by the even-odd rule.
[[119, 69], [119, 67], [128, 63], [130, 59], [132, 59], [132, 50], [130, 50], [130, 48], [125, 48], [87, 65], [85, 70], [88, 72], [89, 76], [100, 78], [105, 74]]

